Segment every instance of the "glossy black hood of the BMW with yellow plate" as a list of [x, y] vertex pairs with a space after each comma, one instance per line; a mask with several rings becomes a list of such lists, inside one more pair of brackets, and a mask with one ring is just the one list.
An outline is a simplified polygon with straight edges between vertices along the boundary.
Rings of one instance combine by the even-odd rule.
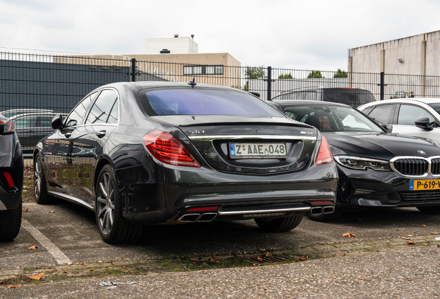
[[400, 134], [362, 134], [359, 132], [325, 133], [331, 154], [349, 154], [380, 160], [395, 156], [440, 156], [437, 141]]

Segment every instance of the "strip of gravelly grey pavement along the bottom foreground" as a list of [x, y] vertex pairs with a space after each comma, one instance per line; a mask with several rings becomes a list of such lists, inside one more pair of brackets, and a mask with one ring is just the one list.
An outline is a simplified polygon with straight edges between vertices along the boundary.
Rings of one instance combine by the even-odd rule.
[[[87, 278], [1, 289], [0, 298], [440, 298], [439, 250], [407, 248], [293, 264]], [[113, 289], [102, 280], [136, 282]]]

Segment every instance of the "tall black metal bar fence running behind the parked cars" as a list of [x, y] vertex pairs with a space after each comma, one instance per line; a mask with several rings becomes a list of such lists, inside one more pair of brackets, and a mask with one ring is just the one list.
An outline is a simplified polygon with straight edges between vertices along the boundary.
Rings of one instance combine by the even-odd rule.
[[[192, 78], [197, 83], [259, 93], [262, 100], [289, 90], [334, 87], [370, 91], [374, 100], [413, 96], [440, 98], [439, 76], [148, 62], [127, 56], [0, 52], [0, 112], [16, 110], [8, 114], [10, 117], [27, 114], [22, 120], [12, 116], [17, 129], [23, 129], [25, 135], [35, 132], [28, 129], [35, 127], [45, 127], [40, 133], [48, 134], [50, 119], [55, 113], [67, 114], [86, 93], [103, 84], [141, 80], [187, 82]], [[25, 147], [31, 149], [41, 134], [30, 138], [31, 142]]]

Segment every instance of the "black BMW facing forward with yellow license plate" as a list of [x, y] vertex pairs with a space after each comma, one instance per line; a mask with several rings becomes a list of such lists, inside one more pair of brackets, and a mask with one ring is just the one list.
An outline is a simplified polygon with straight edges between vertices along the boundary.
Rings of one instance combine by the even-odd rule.
[[[311, 215], [338, 219], [366, 207], [415, 206], [440, 212], [440, 147], [437, 141], [387, 132], [360, 111], [333, 102], [279, 101], [273, 107], [316, 127], [327, 138], [338, 167], [335, 212]], [[389, 128], [391, 129], [391, 128]]]

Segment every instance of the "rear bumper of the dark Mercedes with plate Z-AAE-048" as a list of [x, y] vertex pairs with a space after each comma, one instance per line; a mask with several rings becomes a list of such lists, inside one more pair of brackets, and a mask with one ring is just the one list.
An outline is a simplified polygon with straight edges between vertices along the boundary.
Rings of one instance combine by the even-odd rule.
[[[136, 169], [135, 169], [136, 168]], [[299, 172], [275, 175], [231, 174], [189, 167], [161, 168], [166, 181], [140, 183], [145, 165], [116, 170], [124, 201], [124, 217], [137, 224], [167, 221], [253, 219], [329, 212], [336, 201], [336, 167], [333, 163]], [[183, 171], [179, 171], [183, 170]], [[134, 176], [133, 174], [138, 175]], [[150, 172], [151, 173], [151, 170]], [[130, 175], [128, 175], [130, 174]], [[133, 178], [137, 177], [136, 183]], [[139, 183], [138, 183], [139, 182]], [[318, 204], [313, 204], [319, 201]], [[212, 208], [203, 212], [192, 209]], [[213, 213], [205, 215], [207, 213]], [[212, 217], [214, 216], [214, 217]], [[202, 220], [199, 220], [199, 218]], [[212, 219], [210, 219], [212, 217]], [[185, 217], [183, 218], [185, 221]]]

